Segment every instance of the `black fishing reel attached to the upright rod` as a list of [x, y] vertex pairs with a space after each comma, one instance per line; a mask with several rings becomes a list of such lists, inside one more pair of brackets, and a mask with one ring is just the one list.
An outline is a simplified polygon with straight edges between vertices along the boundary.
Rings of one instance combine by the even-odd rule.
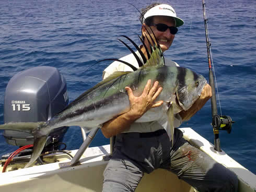
[[232, 121], [230, 116], [214, 115], [212, 126], [213, 126], [214, 129], [217, 129], [217, 130], [227, 130], [228, 134], [230, 134], [231, 133], [231, 126], [232, 126], [233, 123], [235, 123], [235, 122]]

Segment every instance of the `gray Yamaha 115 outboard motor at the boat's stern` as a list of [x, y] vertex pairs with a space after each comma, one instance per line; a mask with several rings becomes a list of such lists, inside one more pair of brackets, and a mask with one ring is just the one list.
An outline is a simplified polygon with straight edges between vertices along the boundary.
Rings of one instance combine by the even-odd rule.
[[[21, 71], [10, 79], [5, 91], [4, 123], [45, 122], [68, 105], [65, 78], [55, 67], [41, 66]], [[51, 131], [44, 151], [56, 150], [54, 145], [62, 142], [68, 127]], [[33, 144], [33, 135], [5, 130], [9, 145]]]

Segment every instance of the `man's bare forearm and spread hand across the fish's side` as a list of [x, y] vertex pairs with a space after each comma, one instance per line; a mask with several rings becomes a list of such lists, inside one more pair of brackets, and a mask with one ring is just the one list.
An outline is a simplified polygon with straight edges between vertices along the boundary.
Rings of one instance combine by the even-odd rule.
[[149, 79], [143, 93], [139, 97], [135, 97], [133, 95], [131, 88], [125, 87], [125, 90], [129, 96], [130, 110], [103, 124], [101, 131], [105, 137], [110, 138], [122, 133], [124, 130], [128, 129], [139, 117], [146, 113], [147, 110], [158, 107], [163, 103], [163, 101], [154, 102], [162, 91], [161, 87], [158, 88], [158, 81], [154, 83], [151, 89], [150, 84], [151, 80]]

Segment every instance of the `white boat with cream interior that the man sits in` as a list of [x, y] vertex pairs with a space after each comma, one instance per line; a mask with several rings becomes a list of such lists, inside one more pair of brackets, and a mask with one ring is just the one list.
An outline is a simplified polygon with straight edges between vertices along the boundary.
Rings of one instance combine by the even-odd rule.
[[[180, 128], [184, 138], [192, 145], [206, 152], [217, 162], [222, 163], [239, 178], [239, 192], [256, 191], [256, 176], [230, 158], [224, 151], [216, 152], [212, 143], [191, 128]], [[77, 150], [67, 151], [75, 154]], [[101, 191], [102, 173], [110, 154], [110, 145], [91, 147], [83, 153], [79, 164], [61, 168], [63, 162], [70, 162], [65, 153], [49, 154], [44, 161], [52, 162], [22, 169], [25, 163], [9, 165], [5, 173], [0, 173], [1, 191]], [[3, 162], [2, 162], [3, 164]], [[3, 169], [3, 166], [1, 167]], [[2, 172], [2, 170], [1, 170]], [[216, 178], [217, 179], [217, 178]], [[196, 191], [192, 186], [178, 179], [173, 173], [157, 169], [145, 174], [136, 191]]]

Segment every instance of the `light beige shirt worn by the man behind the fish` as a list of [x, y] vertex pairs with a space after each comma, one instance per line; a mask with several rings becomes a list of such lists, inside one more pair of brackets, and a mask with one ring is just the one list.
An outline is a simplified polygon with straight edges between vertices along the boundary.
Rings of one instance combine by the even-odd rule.
[[[139, 55], [139, 52], [135, 52], [139, 59], [143, 62], [143, 59], [141, 55]], [[138, 68], [138, 62], [136, 61], [136, 58], [134, 55], [131, 53], [129, 55], [126, 55], [120, 60], [125, 61], [127, 63], [132, 64], [136, 68]], [[166, 60], [166, 65], [167, 66], [179, 66], [176, 62], [173, 62], [171, 60]], [[114, 73], [115, 71], [133, 71], [133, 69], [121, 62], [113, 62], [110, 64], [104, 71], [103, 71], [103, 79], [106, 79], [109, 75]], [[174, 127], [179, 127], [182, 123], [182, 118], [180, 117], [179, 114], [176, 114], [174, 117]], [[167, 116], [163, 116], [159, 121], [153, 121], [153, 122], [146, 122], [146, 123], [133, 123], [130, 128], [123, 133], [130, 133], [130, 132], [136, 132], [136, 133], [146, 133], [146, 132], [153, 132], [159, 129], [166, 129], [169, 127], [169, 123], [167, 121]]]

